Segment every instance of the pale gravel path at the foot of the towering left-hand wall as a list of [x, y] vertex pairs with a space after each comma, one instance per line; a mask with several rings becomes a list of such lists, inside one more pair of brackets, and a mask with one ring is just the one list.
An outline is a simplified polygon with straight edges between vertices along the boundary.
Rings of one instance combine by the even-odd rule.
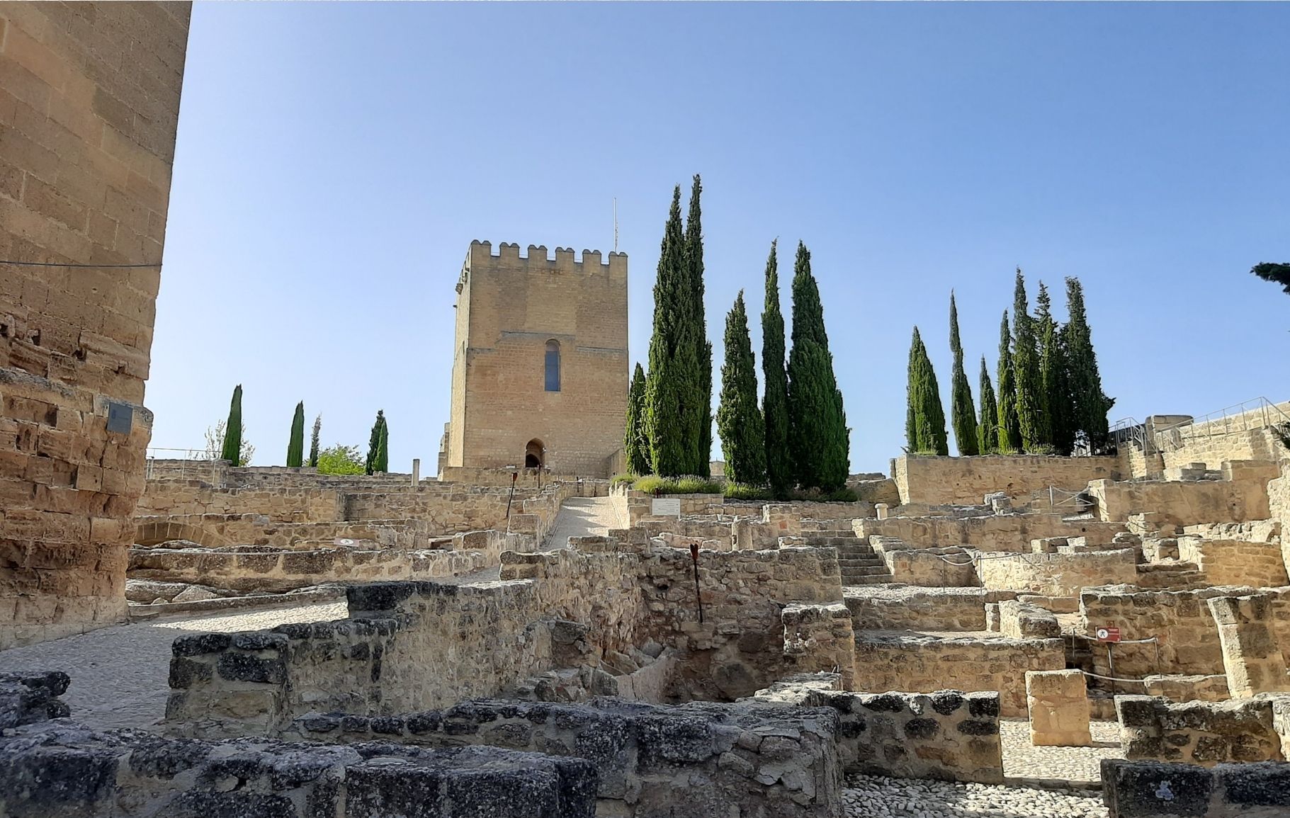
[[344, 603], [239, 613], [188, 614], [99, 628], [0, 650], [0, 671], [63, 671], [72, 719], [92, 728], [151, 728], [170, 693], [170, 643], [194, 631], [258, 631], [288, 622], [343, 619]]

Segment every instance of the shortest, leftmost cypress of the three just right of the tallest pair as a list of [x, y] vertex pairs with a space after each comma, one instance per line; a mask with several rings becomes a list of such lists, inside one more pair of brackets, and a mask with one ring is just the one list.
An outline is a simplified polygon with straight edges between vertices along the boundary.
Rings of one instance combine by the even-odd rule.
[[734, 307], [726, 315], [717, 432], [725, 454], [726, 479], [762, 485], [766, 481], [766, 435], [757, 408], [757, 361], [752, 357], [743, 290], [739, 290]]

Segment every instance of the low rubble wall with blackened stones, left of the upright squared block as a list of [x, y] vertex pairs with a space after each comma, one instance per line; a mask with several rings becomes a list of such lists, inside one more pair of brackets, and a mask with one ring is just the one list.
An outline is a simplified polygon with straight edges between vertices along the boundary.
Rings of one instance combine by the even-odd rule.
[[997, 693], [845, 693], [806, 681], [759, 690], [756, 699], [836, 710], [848, 773], [1004, 781]]

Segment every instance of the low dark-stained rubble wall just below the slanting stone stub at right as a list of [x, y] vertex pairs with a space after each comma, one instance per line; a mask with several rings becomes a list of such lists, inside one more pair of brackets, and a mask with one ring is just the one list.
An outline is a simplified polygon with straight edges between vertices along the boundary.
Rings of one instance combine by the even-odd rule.
[[1169, 703], [1117, 695], [1125, 757], [1213, 766], [1226, 761], [1281, 761], [1271, 698]]

